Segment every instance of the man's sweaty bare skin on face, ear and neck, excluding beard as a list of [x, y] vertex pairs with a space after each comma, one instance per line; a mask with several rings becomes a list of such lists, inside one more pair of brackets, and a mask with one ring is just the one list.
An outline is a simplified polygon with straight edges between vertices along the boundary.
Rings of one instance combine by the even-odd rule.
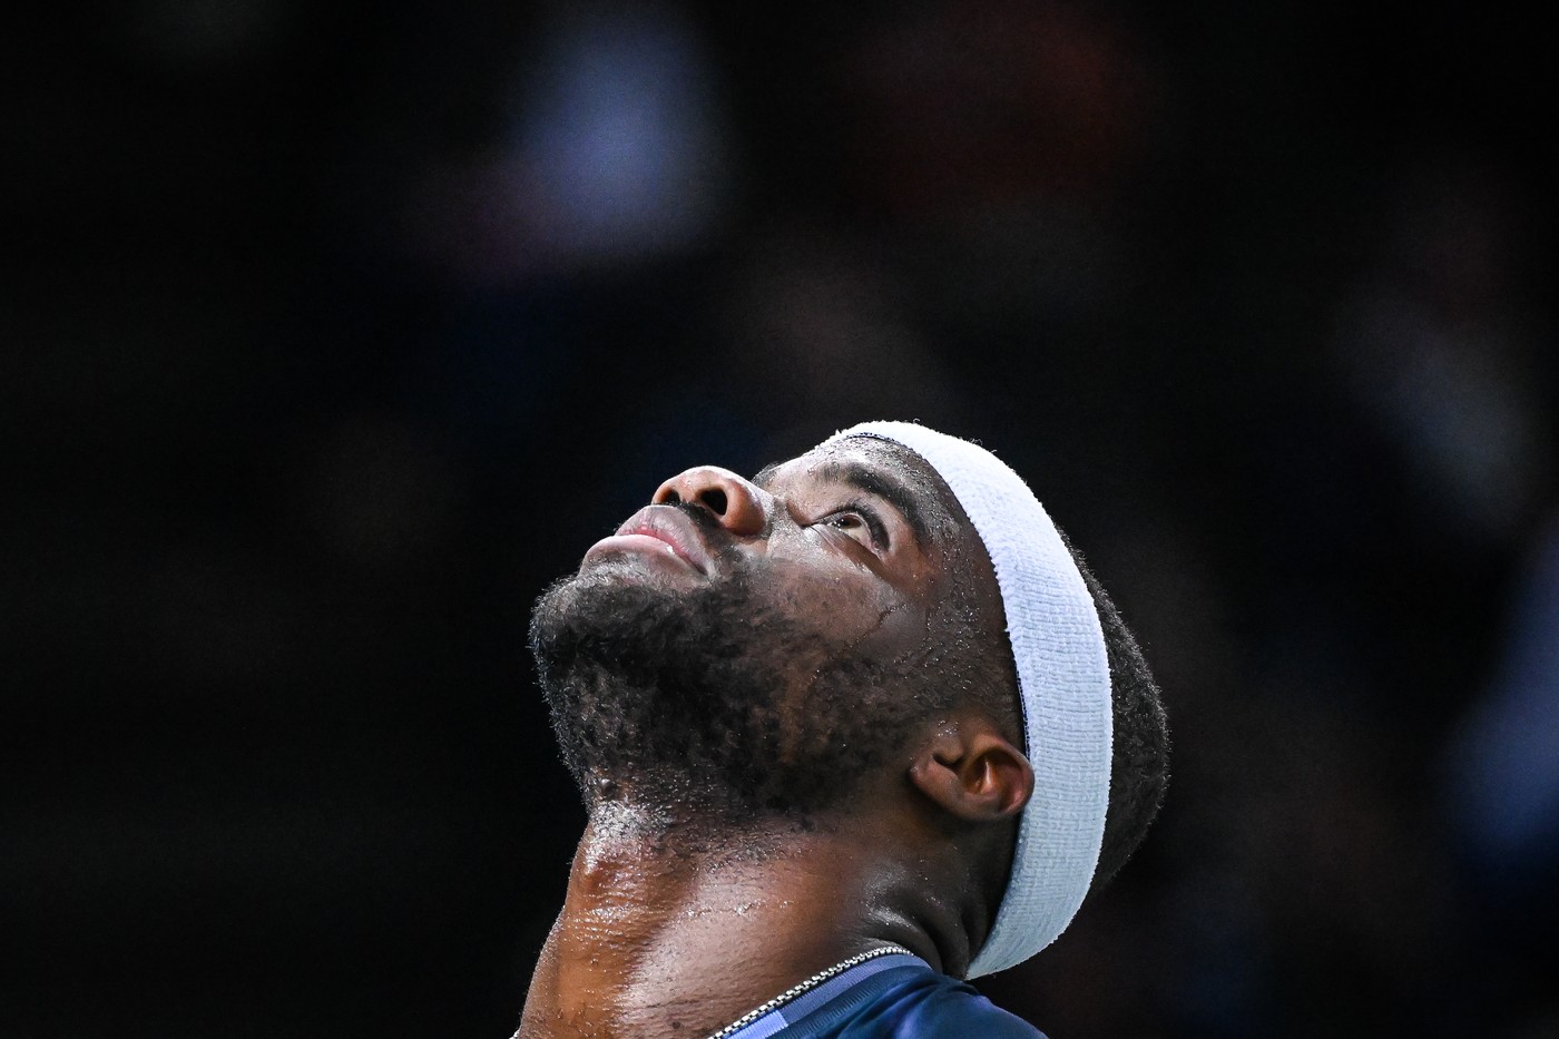
[[[708, 509], [761, 565], [775, 602], [809, 619], [829, 652], [892, 658], [937, 638], [934, 605], [954, 565], [979, 571], [982, 635], [998, 644], [999, 593], [967, 521], [931, 524], [917, 543], [898, 507], [839, 479], [840, 463], [906, 485], [924, 515], [948, 515], [896, 449], [861, 440], [765, 470], [761, 485], [688, 470], [655, 502]], [[688, 544], [688, 530], [666, 535], [677, 549], [656, 535], [606, 538], [582, 571], [670, 588], [719, 580], [717, 555]], [[790, 661], [797, 711], [812, 666], [806, 654]], [[580, 839], [518, 1039], [708, 1036], [890, 942], [962, 977], [995, 917], [1015, 821], [1034, 789], [1013, 733], [974, 707], [929, 719], [887, 768], [804, 827], [773, 821], [711, 835], [678, 805], [635, 799], [631, 777], [614, 780], [620, 788], [592, 807]]]

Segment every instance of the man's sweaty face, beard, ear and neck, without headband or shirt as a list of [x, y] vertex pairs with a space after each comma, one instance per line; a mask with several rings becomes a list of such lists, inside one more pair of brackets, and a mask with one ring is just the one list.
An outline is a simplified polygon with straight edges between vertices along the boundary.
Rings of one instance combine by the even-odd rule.
[[663, 484], [533, 616], [589, 822], [519, 1036], [708, 1034], [887, 944], [963, 977], [1034, 796], [1006, 622], [900, 443]]

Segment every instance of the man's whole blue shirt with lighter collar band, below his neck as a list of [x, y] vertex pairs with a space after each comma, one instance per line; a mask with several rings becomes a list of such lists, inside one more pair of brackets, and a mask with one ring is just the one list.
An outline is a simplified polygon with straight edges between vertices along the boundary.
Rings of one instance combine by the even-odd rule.
[[1045, 1039], [920, 956], [859, 963], [781, 1003], [730, 1039]]

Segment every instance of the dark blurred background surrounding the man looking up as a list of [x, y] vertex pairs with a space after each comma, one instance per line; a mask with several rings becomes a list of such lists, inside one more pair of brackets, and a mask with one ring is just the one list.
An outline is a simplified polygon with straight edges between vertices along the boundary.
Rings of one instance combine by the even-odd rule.
[[1177, 736], [987, 992], [1559, 1036], [1556, 41], [1388, 6], [8, 16], [0, 1034], [508, 1036], [583, 819], [530, 602], [918, 418]]

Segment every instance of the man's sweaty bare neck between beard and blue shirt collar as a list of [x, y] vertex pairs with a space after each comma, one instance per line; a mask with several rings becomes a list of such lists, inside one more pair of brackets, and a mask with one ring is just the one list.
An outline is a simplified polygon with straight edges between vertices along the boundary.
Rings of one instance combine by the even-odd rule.
[[962, 969], [957, 906], [886, 824], [750, 830], [700, 842], [602, 805], [574, 856], [518, 1039], [706, 1036], [840, 959], [887, 944]]

